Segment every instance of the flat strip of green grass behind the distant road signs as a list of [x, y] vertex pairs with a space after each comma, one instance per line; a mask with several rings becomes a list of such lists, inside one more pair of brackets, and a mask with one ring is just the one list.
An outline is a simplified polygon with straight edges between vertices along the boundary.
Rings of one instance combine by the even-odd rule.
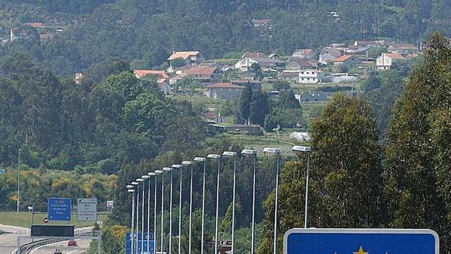
[[[43, 225], [44, 218], [47, 217], [47, 213], [35, 213], [34, 214], [34, 224], [35, 225]], [[105, 221], [107, 219], [107, 214], [98, 214], [99, 221]], [[95, 222], [78, 222], [77, 214], [72, 213], [72, 221], [63, 222], [63, 221], [49, 221], [47, 225], [74, 225], [77, 227], [89, 227], [93, 226]], [[30, 228], [31, 226], [31, 212], [0, 212], [0, 224], [10, 225], [16, 227], [26, 227]]]

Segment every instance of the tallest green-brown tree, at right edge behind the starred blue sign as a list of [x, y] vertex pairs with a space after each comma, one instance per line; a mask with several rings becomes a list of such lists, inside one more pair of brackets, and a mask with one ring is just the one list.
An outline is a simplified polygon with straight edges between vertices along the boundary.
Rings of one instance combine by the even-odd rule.
[[449, 150], [451, 50], [441, 33], [428, 42], [424, 62], [414, 69], [388, 126], [385, 192], [389, 226], [431, 228], [449, 246]]

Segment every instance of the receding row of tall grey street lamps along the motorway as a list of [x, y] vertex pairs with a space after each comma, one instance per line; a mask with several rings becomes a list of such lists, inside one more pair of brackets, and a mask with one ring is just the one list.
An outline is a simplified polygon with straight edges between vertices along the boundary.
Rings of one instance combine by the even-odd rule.
[[[306, 146], [293, 146], [292, 151], [295, 153], [308, 153], [308, 162], [306, 170], [306, 188], [305, 188], [305, 213], [304, 213], [304, 227], [307, 227], [307, 207], [308, 207], [308, 191], [309, 191], [309, 171], [310, 171], [310, 147]], [[274, 154], [276, 158], [276, 186], [275, 186], [275, 212], [274, 212], [274, 243], [273, 243], [273, 253], [277, 253], [277, 220], [278, 220], [278, 188], [279, 188], [279, 168], [280, 168], [280, 149], [278, 148], [264, 148], [264, 153]], [[254, 162], [254, 172], [253, 172], [253, 192], [252, 192], [252, 235], [251, 235], [251, 254], [255, 253], [255, 187], [256, 187], [256, 167], [257, 167], [257, 151], [244, 149], [241, 154], [245, 157], [252, 158]], [[182, 168], [190, 168], [190, 208], [189, 208], [189, 246], [188, 253], [191, 254], [192, 247], [192, 195], [193, 195], [193, 165], [195, 162], [203, 163], [203, 178], [202, 178], [202, 227], [201, 227], [201, 247], [200, 253], [204, 253], [204, 219], [205, 219], [205, 179], [206, 179], [206, 162], [208, 159], [215, 160], [217, 162], [217, 180], [216, 180], [216, 218], [215, 218], [215, 254], [218, 253], [218, 220], [219, 220], [219, 175], [220, 175], [220, 161], [221, 158], [233, 159], [233, 201], [232, 201], [232, 249], [231, 253], [234, 254], [235, 251], [235, 192], [236, 192], [236, 160], [237, 153], [232, 151], [224, 151], [222, 154], [208, 154], [207, 158], [195, 157], [193, 161], [183, 161], [181, 164], [173, 164], [171, 167], [163, 167], [162, 170], [155, 170], [154, 172], [149, 172], [147, 175], [142, 175], [140, 178], [131, 182], [127, 185], [127, 191], [132, 193], [132, 218], [131, 218], [131, 254], [142, 254], [145, 253], [144, 250], [144, 239], [141, 239], [141, 253], [138, 253], [138, 240], [135, 240], [135, 231], [138, 235], [139, 227], [139, 187], [142, 183], [142, 194], [141, 194], [141, 238], [144, 236], [144, 206], [145, 206], [145, 181], [148, 180], [148, 206], [147, 206], [147, 253], [150, 254], [149, 245], [149, 227], [150, 227], [150, 196], [151, 196], [151, 184], [150, 179], [154, 177], [155, 179], [155, 189], [154, 189], [154, 235], [157, 230], [156, 226], [156, 212], [157, 212], [157, 177], [161, 175], [161, 236], [160, 236], [160, 251], [163, 253], [163, 222], [164, 222], [164, 194], [165, 194], [165, 173], [170, 173], [170, 208], [169, 208], [169, 250], [168, 253], [172, 252], [172, 189], [173, 189], [173, 171], [179, 170], [180, 173], [180, 186], [179, 186], [179, 217], [178, 217], [178, 254], [181, 253], [181, 201], [182, 201]], [[136, 194], [135, 194], [136, 193]], [[135, 197], [136, 197], [136, 209], [135, 209]], [[136, 213], [136, 221], [135, 221]], [[136, 223], [136, 229], [134, 224]], [[155, 240], [155, 237], [154, 237]], [[154, 241], [154, 253], [156, 254], [157, 243]]]

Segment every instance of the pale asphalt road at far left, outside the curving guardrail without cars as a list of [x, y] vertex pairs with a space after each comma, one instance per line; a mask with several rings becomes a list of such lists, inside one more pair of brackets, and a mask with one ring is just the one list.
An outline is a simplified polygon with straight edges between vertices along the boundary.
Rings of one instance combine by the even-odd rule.
[[[0, 253], [9, 254], [17, 248], [17, 235], [30, 236], [30, 229], [23, 227], [13, 227], [0, 224]], [[31, 239], [22, 239], [21, 244], [30, 242]]]

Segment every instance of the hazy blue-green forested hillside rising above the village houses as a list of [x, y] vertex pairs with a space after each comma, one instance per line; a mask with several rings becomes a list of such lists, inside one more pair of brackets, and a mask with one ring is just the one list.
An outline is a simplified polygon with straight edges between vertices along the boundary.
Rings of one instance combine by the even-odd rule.
[[[1, 2], [4, 38], [10, 28], [25, 22], [63, 30], [49, 42], [29, 36], [7, 43], [0, 48], [1, 61], [26, 51], [65, 75], [107, 57], [118, 57], [133, 68], [158, 67], [173, 50], [200, 50], [207, 58], [220, 58], [257, 50], [289, 54], [297, 48], [355, 40], [388, 39], [419, 46], [430, 32], [446, 34], [451, 28], [446, 0]], [[271, 21], [256, 27], [254, 18]]]

